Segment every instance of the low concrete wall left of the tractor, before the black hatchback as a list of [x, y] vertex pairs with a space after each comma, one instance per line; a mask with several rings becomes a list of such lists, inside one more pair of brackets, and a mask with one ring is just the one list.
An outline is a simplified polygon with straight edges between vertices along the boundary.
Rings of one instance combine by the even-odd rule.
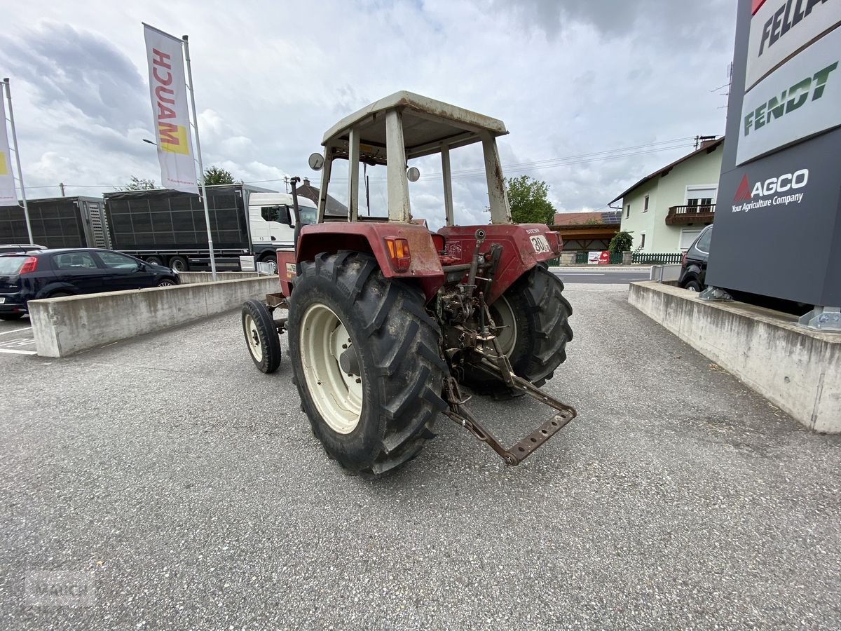
[[29, 320], [38, 354], [66, 357], [235, 309], [279, 289], [272, 276], [29, 300]]

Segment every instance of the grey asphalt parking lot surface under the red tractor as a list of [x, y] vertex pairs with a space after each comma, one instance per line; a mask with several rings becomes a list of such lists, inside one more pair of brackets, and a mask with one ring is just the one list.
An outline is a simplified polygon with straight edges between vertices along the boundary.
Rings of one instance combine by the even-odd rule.
[[[238, 313], [0, 355], [3, 627], [841, 627], [841, 437], [648, 320], [627, 285], [567, 294], [575, 337], [547, 390], [579, 417], [516, 468], [442, 416], [394, 475], [342, 475], [288, 358], [257, 372]], [[0, 344], [26, 326], [0, 323]], [[508, 443], [549, 416], [468, 405]], [[58, 570], [87, 581], [84, 606], [30, 600]]]

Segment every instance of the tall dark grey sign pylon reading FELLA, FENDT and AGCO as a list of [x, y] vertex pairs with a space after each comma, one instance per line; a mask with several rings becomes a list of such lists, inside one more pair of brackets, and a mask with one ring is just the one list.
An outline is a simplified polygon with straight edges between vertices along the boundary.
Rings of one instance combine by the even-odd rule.
[[738, 0], [726, 138], [707, 284], [841, 306], [841, 0]]

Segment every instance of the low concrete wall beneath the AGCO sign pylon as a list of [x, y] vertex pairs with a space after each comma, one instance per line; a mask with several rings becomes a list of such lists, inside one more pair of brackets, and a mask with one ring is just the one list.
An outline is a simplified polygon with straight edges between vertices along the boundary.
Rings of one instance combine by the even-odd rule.
[[841, 335], [804, 329], [794, 315], [697, 295], [649, 281], [632, 283], [628, 302], [806, 427], [841, 432]]

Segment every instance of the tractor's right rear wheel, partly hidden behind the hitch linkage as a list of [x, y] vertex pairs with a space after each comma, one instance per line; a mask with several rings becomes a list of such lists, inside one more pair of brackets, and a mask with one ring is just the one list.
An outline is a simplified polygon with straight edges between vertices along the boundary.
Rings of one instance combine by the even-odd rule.
[[[500, 342], [506, 335], [508, 339], [500, 345], [514, 374], [538, 388], [552, 379], [554, 370], [566, 361], [567, 342], [573, 339], [569, 326], [573, 308], [563, 297], [561, 279], [538, 265], [523, 274], [489, 309], [495, 324], [506, 326]], [[500, 391], [500, 380], [484, 370], [466, 369], [464, 381], [483, 394], [505, 394]]]

